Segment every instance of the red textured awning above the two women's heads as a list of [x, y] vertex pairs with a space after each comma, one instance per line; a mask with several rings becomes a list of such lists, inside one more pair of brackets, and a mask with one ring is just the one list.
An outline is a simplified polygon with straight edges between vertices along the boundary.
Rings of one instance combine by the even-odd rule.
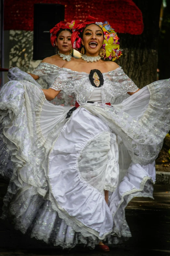
[[34, 4], [38, 3], [65, 5], [65, 20], [68, 22], [74, 19], [84, 20], [91, 15], [101, 22], [108, 21], [118, 33], [139, 35], [143, 31], [142, 13], [132, 0], [6, 0], [4, 29], [32, 31]]

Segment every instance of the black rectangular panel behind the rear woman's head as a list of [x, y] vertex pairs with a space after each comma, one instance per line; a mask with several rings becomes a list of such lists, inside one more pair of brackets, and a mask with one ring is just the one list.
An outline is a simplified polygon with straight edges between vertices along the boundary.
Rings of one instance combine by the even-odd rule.
[[50, 29], [64, 21], [64, 5], [34, 4], [33, 60], [43, 60], [55, 54], [50, 43]]

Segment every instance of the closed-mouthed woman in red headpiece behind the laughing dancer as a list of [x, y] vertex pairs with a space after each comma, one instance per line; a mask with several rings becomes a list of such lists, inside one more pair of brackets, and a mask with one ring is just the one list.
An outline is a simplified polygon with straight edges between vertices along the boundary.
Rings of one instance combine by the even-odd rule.
[[[65, 62], [75, 60], [75, 58], [71, 56], [73, 52], [71, 44], [72, 29], [70, 29], [68, 24], [65, 21], [61, 21], [50, 29], [50, 33], [50, 42], [53, 47], [56, 47], [56, 54], [42, 60], [32, 73], [28, 73], [35, 80], [42, 78], [48, 84], [48, 88], [57, 76], [59, 68], [61, 68]], [[16, 67], [9, 69], [8, 78], [9, 80], [17, 80], [17, 78], [19, 80], [31, 79], [27, 73], [22, 72]]]

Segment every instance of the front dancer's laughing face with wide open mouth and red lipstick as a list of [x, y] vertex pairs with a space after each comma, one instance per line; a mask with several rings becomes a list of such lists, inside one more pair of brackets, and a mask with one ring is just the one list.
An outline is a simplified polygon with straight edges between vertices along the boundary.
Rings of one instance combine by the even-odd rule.
[[103, 39], [103, 30], [99, 26], [95, 24], [87, 26], [81, 39], [81, 43], [86, 49], [86, 55], [97, 56], [102, 47]]

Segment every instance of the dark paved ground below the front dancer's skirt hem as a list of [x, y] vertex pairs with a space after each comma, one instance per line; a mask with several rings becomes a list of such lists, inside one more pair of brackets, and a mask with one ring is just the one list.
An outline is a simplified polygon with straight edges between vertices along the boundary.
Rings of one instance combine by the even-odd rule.
[[[7, 189], [0, 183], [0, 204]], [[155, 200], [134, 198], [126, 208], [132, 238], [110, 252], [76, 248], [63, 251], [31, 239], [15, 230], [13, 224], [0, 221], [0, 256], [167, 256], [170, 255], [170, 185], [154, 186]]]

